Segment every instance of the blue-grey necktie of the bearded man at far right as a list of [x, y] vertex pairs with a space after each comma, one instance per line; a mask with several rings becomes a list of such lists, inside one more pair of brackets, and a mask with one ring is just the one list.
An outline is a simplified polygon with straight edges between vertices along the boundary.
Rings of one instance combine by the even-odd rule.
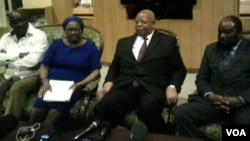
[[226, 52], [220, 64], [221, 72], [225, 72], [229, 68], [232, 59], [233, 59], [233, 52], [232, 51]]

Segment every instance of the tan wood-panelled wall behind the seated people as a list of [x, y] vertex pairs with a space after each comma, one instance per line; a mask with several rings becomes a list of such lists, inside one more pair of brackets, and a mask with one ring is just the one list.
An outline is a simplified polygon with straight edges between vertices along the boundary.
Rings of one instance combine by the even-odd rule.
[[[52, 0], [57, 23], [72, 14], [74, 0]], [[102, 62], [113, 59], [116, 41], [134, 32], [134, 21], [128, 20], [120, 0], [93, 0], [94, 17], [83, 19], [86, 25], [104, 35]], [[175, 32], [180, 39], [180, 51], [189, 69], [199, 68], [203, 50], [217, 39], [217, 25], [226, 15], [238, 16], [238, 0], [197, 0], [192, 20], [160, 20], [156, 27]], [[250, 18], [242, 18], [244, 29], [250, 30]], [[0, 29], [1, 32], [1, 29]], [[0, 33], [1, 35], [1, 33]]]

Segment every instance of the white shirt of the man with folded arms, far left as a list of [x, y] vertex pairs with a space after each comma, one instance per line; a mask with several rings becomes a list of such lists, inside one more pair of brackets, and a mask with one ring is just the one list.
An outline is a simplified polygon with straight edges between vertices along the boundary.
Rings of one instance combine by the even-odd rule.
[[[47, 49], [46, 34], [31, 24], [26, 35], [19, 40], [15, 34], [5, 33], [0, 39], [0, 65], [8, 65], [4, 71], [5, 78], [17, 76], [22, 79], [38, 74], [38, 69], [32, 68], [39, 65]], [[19, 53], [29, 54], [19, 58]]]

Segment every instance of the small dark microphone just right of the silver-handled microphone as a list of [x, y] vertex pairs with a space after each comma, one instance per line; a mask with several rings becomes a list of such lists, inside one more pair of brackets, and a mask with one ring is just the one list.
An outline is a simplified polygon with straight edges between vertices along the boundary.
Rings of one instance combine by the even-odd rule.
[[110, 122], [103, 122], [102, 128], [97, 136], [97, 141], [105, 141], [106, 137], [110, 133], [111, 130], [111, 123]]

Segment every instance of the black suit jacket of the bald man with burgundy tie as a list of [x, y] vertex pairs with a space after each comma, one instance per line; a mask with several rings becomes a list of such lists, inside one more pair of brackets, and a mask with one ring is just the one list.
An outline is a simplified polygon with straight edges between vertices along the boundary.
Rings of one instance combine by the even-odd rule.
[[186, 76], [177, 40], [174, 36], [155, 31], [140, 62], [132, 52], [137, 35], [119, 39], [115, 55], [106, 81], [113, 81], [115, 88], [137, 82], [154, 95], [165, 97], [169, 84], [176, 86], [178, 92]]

